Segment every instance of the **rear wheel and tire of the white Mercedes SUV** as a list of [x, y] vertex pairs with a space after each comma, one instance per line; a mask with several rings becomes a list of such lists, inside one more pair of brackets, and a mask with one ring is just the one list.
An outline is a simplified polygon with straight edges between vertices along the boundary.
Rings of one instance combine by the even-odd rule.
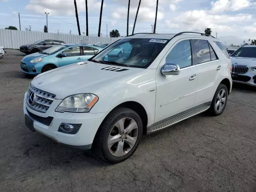
[[[224, 98], [225, 98], [225, 101], [223, 102]], [[220, 102], [220, 100], [222, 101]], [[219, 84], [214, 94], [214, 97], [212, 99], [212, 103], [209, 109], [210, 114], [213, 116], [218, 116], [222, 114], [222, 112], [226, 108], [227, 102], [228, 102], [228, 88], [224, 84]]]

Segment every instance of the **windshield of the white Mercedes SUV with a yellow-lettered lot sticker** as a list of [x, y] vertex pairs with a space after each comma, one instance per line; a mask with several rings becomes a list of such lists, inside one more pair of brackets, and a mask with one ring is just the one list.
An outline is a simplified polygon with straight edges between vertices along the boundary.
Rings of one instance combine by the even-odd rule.
[[147, 68], [167, 43], [166, 39], [124, 38], [108, 46], [89, 61]]

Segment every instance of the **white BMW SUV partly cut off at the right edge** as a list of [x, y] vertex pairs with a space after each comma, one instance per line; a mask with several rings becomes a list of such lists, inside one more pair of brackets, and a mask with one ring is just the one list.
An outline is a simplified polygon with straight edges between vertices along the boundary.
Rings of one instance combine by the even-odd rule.
[[256, 45], [246, 45], [231, 55], [233, 82], [256, 86]]

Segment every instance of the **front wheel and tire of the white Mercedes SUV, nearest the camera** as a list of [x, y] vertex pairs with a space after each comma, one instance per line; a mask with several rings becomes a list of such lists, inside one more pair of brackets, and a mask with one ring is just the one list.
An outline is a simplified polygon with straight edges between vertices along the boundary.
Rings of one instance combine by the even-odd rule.
[[[120, 124], [123, 124], [124, 129]], [[122, 133], [120, 130], [123, 130]], [[135, 152], [142, 132], [142, 120], [134, 110], [117, 108], [102, 122], [94, 138], [92, 150], [102, 160], [110, 163], [122, 162]]]

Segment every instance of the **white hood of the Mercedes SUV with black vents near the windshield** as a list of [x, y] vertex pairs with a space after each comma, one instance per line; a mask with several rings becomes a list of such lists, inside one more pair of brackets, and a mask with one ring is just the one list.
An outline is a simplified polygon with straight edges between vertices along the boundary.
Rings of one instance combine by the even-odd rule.
[[[57, 99], [64, 99], [73, 94], [93, 93], [96, 89], [110, 86], [110, 84], [115, 84], [128, 76], [145, 70], [89, 61], [80, 63], [85, 64], [75, 63], [44, 72], [36, 76], [31, 84], [40, 90], [55, 94]], [[107, 67], [125, 70], [118, 72], [103, 69]]]

